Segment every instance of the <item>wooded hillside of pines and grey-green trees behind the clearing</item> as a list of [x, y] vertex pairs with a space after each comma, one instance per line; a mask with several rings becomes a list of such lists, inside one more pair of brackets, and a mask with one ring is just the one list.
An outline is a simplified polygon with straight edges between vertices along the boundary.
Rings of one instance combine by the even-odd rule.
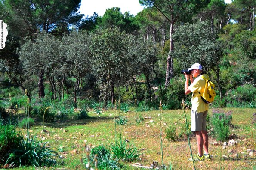
[[216, 84], [213, 107], [256, 108], [255, 0], [139, 0], [83, 16], [80, 0], [1, 0], [0, 101], [140, 101], [180, 108], [181, 69], [200, 63]]

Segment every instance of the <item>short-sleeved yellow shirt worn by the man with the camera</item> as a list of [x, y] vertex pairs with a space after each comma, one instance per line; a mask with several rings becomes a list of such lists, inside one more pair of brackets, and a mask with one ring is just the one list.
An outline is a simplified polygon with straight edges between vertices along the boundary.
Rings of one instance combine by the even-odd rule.
[[[203, 75], [205, 78], [210, 80], [207, 74], [203, 74]], [[188, 87], [188, 89], [193, 93], [191, 98], [191, 104], [192, 104], [191, 110], [197, 111], [197, 113], [204, 112], [209, 109], [209, 105], [202, 100], [200, 95], [204, 92], [204, 86], [205, 86], [205, 80], [201, 78], [201, 76], [199, 76]]]

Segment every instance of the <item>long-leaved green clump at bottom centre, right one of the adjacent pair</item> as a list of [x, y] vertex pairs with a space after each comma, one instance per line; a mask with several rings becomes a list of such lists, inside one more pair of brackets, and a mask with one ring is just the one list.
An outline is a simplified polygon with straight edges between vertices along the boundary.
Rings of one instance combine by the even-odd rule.
[[111, 143], [110, 148], [112, 149], [114, 158], [124, 159], [128, 162], [139, 159], [141, 155], [136, 146], [126, 141], [122, 142], [122, 140], [117, 143]]

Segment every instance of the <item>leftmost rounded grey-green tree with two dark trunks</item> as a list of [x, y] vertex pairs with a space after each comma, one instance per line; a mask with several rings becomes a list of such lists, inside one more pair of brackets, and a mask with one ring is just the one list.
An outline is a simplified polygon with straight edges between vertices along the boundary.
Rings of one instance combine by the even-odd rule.
[[58, 62], [59, 43], [53, 36], [47, 33], [39, 33], [34, 42], [28, 40], [22, 45], [20, 57], [25, 69], [27, 72], [33, 72], [39, 75], [39, 98], [43, 98], [45, 95], [43, 81], [46, 73], [52, 87], [52, 99], [56, 99], [54, 77], [56, 75], [56, 69], [61, 67]]

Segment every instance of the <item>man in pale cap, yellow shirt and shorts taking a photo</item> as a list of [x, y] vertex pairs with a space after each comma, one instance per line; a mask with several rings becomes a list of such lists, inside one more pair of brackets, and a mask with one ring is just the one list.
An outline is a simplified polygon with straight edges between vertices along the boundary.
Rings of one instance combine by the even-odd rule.
[[[194, 157], [194, 161], [204, 161], [204, 159], [210, 160], [211, 157], [208, 153], [208, 134], [206, 130], [206, 117], [209, 106], [201, 99], [200, 94], [204, 92], [206, 82], [200, 76], [204, 75], [208, 80], [210, 80], [210, 78], [203, 72], [203, 67], [199, 63], [193, 64], [188, 70], [191, 71], [190, 75], [187, 75], [184, 72], [186, 78], [185, 94], [188, 95], [191, 92], [193, 93], [191, 99], [191, 131], [195, 131], [198, 149], [198, 154]], [[193, 77], [195, 79], [193, 79]], [[188, 79], [191, 81], [190, 86], [188, 86]], [[189, 160], [192, 161], [192, 158]]]

